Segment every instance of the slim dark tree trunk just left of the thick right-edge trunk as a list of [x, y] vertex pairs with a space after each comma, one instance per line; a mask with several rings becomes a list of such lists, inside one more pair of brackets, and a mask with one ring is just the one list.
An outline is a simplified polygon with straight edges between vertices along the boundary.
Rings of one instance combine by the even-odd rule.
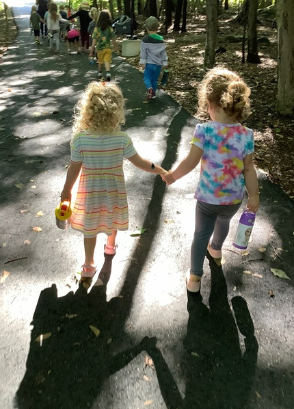
[[251, 62], [252, 64], [260, 64], [257, 47], [257, 7], [258, 0], [249, 1], [247, 62]]

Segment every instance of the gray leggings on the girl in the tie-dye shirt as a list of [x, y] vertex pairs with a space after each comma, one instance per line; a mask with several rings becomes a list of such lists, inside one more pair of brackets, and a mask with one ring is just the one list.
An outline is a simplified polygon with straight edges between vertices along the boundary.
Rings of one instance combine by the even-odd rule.
[[240, 207], [241, 202], [237, 205], [209, 205], [197, 200], [195, 232], [191, 245], [191, 274], [202, 276], [204, 258], [212, 235], [211, 248], [222, 250], [230, 220]]

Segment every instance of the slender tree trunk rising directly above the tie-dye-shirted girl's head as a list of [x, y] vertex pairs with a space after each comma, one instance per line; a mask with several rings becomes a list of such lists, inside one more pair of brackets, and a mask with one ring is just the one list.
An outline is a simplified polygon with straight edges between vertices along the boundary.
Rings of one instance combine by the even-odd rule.
[[215, 44], [217, 41], [217, 0], [206, 0], [206, 44], [204, 70], [215, 65]]

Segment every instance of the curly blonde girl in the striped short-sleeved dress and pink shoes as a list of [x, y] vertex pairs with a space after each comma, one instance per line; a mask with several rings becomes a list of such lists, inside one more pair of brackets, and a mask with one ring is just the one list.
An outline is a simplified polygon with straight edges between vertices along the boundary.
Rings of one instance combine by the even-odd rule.
[[120, 88], [113, 83], [91, 82], [75, 109], [71, 161], [61, 194], [62, 202], [71, 201], [72, 187], [81, 171], [70, 222], [84, 235], [82, 278], [91, 278], [96, 272], [97, 234], [107, 235], [105, 254], [116, 254], [117, 231], [129, 227], [123, 159], [146, 172], [162, 176], [166, 173], [137, 154], [131, 137], [120, 131], [123, 123], [124, 97]]

